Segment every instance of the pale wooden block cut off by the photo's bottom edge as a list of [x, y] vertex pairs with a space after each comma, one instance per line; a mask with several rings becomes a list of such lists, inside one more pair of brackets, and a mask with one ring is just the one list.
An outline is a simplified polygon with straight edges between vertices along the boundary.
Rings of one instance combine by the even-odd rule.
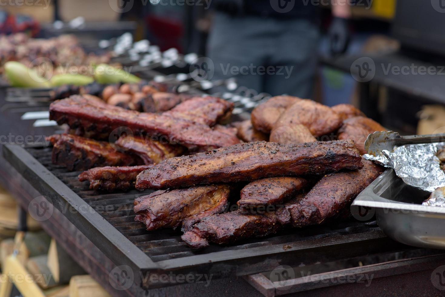
[[77, 275], [69, 282], [69, 297], [111, 297], [111, 295], [89, 275]]

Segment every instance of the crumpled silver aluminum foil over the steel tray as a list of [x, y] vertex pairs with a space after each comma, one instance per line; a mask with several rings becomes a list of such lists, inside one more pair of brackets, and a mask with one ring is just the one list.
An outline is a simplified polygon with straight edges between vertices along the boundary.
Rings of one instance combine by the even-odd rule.
[[436, 156], [437, 150], [444, 146], [445, 142], [408, 144], [392, 152], [383, 150], [379, 156], [366, 154], [364, 158], [393, 168], [408, 185], [432, 192], [438, 187], [445, 187], [445, 173]]

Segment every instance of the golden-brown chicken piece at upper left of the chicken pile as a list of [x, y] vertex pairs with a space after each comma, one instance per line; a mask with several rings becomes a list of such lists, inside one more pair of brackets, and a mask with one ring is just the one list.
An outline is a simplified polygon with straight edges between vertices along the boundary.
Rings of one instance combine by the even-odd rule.
[[292, 96], [276, 96], [252, 110], [252, 125], [258, 131], [269, 134], [276, 121], [295, 102], [301, 100]]

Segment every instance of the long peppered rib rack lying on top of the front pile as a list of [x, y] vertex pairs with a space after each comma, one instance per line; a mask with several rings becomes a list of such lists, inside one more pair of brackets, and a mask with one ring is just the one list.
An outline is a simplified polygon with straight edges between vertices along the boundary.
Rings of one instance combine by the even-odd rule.
[[244, 142], [205, 153], [166, 159], [141, 172], [136, 188], [166, 189], [275, 176], [320, 175], [361, 167], [361, 156], [351, 140], [303, 145]]

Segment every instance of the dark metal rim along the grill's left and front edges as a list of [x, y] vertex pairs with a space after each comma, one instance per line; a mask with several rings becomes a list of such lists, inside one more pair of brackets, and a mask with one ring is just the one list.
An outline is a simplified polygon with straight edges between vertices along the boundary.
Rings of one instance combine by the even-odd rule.
[[[194, 256], [154, 262], [150, 256], [113, 227], [24, 147], [5, 145], [3, 155], [37, 191], [49, 197], [49, 203], [63, 212], [67, 219], [81, 230], [105, 256], [109, 257], [117, 266], [128, 265], [131, 267], [135, 276], [147, 272], [150, 275], [168, 272], [184, 275], [209, 273], [214, 278], [242, 276], [270, 271], [282, 264], [314, 264], [320, 261], [351, 259], [357, 256], [409, 249], [408, 246], [389, 239], [380, 230], [372, 230], [286, 244], [210, 253], [196, 252]], [[66, 212], [69, 208], [75, 211]], [[174, 283], [143, 283], [142, 279], [137, 282], [141, 283], [144, 288], [175, 285]]]

